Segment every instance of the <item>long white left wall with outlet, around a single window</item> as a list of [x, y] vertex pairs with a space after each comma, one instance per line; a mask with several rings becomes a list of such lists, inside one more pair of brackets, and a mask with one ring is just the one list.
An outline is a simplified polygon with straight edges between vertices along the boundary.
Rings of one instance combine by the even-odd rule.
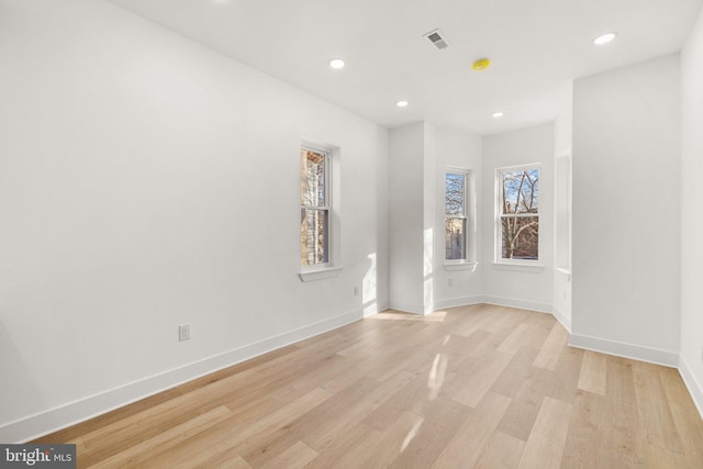
[[[388, 131], [102, 1], [0, 11], [0, 440], [388, 305]], [[342, 152], [306, 283], [302, 137]]]

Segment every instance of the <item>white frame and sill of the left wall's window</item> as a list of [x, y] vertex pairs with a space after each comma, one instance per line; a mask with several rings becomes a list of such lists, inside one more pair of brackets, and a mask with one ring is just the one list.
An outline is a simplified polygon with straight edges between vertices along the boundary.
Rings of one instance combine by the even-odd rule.
[[[298, 152], [299, 155], [301, 150], [314, 152], [324, 155], [325, 157], [325, 205], [313, 208], [313, 210], [324, 210], [327, 212], [327, 245], [325, 246], [327, 252], [327, 261], [321, 264], [300, 265], [299, 276], [302, 281], [321, 280], [330, 277], [337, 277], [342, 272], [342, 256], [339, 252], [339, 148], [334, 145], [303, 141]], [[300, 209], [310, 210], [311, 208], [300, 204]], [[301, 253], [299, 252], [299, 258], [300, 254]]]

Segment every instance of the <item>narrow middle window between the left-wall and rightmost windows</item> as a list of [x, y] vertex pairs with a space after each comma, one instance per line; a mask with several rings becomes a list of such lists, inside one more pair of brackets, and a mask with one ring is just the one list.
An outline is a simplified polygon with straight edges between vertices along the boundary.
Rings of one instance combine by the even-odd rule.
[[445, 175], [445, 258], [467, 260], [468, 174]]

